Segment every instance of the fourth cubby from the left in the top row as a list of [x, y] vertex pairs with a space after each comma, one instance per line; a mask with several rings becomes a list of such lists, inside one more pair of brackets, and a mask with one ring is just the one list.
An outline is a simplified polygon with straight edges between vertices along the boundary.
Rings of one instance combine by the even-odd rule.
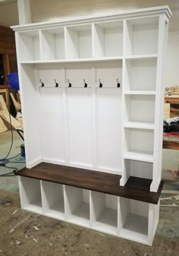
[[95, 24], [94, 57], [117, 57], [123, 55], [123, 22]]

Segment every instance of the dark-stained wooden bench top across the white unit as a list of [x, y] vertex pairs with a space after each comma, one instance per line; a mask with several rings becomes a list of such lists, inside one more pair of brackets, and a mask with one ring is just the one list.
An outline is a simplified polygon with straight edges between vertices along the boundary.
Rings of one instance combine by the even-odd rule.
[[121, 175], [70, 166], [59, 166], [52, 163], [39, 163], [32, 169], [24, 168], [16, 172], [16, 174], [28, 178], [71, 185], [77, 188], [86, 188], [151, 204], [158, 203], [163, 186], [163, 182], [161, 182], [157, 193], [150, 192], [151, 179], [132, 176], [123, 187], [119, 185]]

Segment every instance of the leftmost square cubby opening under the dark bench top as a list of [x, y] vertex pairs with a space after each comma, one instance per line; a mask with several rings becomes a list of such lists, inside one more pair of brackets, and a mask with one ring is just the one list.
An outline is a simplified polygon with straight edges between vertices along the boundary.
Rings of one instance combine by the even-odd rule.
[[24, 209], [42, 213], [40, 181], [38, 179], [20, 177], [20, 184]]

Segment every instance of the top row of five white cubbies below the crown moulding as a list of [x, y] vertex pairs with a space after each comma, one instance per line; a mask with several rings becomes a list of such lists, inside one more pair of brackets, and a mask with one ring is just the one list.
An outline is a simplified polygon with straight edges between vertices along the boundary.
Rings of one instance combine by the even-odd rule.
[[21, 63], [157, 58], [159, 16], [17, 33]]

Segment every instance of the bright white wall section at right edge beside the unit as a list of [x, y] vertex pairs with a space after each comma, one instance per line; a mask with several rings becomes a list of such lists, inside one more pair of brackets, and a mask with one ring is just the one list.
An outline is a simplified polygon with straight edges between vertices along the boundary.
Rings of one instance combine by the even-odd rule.
[[167, 86], [179, 86], [179, 30], [168, 34]]

